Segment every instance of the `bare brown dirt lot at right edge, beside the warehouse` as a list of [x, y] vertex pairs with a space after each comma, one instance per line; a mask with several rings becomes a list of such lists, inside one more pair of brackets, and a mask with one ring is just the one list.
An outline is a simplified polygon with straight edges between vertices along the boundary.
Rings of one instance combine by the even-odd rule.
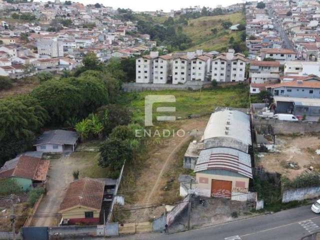
[[315, 153], [319, 148], [320, 135], [276, 136], [275, 152], [259, 154], [263, 156], [259, 157], [258, 165], [263, 165], [265, 171], [293, 179], [309, 166], [319, 168], [320, 156]]

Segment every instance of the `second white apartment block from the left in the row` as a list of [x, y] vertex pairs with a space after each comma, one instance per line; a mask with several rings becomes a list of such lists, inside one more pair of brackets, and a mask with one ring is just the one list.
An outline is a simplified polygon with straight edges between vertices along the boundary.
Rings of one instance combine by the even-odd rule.
[[167, 83], [172, 74], [172, 55], [162, 55], [153, 59], [153, 83]]

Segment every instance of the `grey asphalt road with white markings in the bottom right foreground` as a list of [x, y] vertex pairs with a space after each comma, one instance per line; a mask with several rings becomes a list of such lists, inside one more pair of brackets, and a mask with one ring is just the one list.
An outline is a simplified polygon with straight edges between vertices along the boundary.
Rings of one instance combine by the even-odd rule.
[[320, 231], [320, 215], [313, 213], [310, 205], [306, 205], [180, 233], [144, 233], [116, 239], [298, 240], [317, 231]]

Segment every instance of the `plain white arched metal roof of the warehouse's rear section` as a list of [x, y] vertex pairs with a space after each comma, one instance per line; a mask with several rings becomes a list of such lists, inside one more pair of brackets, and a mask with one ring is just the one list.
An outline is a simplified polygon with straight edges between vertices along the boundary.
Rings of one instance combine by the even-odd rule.
[[249, 115], [238, 111], [222, 109], [211, 114], [203, 133], [204, 141], [214, 137], [230, 137], [243, 144], [251, 145]]

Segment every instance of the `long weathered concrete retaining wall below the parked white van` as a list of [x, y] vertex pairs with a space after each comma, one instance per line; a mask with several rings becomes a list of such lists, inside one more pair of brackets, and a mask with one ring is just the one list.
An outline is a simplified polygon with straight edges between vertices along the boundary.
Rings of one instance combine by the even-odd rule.
[[273, 134], [292, 134], [320, 132], [320, 122], [314, 121], [282, 121], [276, 119], [253, 119], [254, 128], [258, 133], [272, 127]]

